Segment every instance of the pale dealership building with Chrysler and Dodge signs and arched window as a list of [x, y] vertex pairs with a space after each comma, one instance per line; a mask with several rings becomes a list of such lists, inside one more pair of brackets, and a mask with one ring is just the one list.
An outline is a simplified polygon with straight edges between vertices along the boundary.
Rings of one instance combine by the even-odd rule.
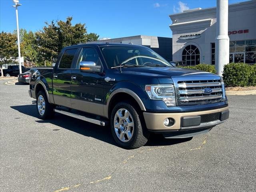
[[[170, 15], [172, 60], [215, 64], [216, 7]], [[228, 6], [230, 62], [256, 63], [256, 0]]]

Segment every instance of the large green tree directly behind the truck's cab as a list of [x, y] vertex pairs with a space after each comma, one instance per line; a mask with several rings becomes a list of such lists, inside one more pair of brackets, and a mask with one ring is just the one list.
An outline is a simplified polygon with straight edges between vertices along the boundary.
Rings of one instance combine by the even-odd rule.
[[86, 34], [85, 24], [72, 25], [72, 17], [68, 17], [66, 21], [46, 22], [46, 26], [36, 32], [38, 60], [56, 62], [62, 48], [85, 43]]

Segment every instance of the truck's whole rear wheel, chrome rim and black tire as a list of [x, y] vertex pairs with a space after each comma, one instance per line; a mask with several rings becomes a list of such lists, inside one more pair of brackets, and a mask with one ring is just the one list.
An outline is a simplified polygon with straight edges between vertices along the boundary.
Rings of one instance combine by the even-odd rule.
[[44, 91], [39, 91], [36, 96], [36, 108], [40, 119], [53, 118], [54, 106], [48, 102]]

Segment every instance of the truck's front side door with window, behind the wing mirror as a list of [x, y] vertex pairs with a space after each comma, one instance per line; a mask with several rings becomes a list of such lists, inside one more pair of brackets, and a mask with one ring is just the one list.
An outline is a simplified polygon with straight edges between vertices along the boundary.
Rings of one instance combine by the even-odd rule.
[[[101, 72], [80, 70], [80, 64], [87, 63], [98, 66]], [[76, 69], [71, 75], [71, 106], [83, 112], [103, 114], [104, 73], [99, 54], [94, 47], [81, 48]]]

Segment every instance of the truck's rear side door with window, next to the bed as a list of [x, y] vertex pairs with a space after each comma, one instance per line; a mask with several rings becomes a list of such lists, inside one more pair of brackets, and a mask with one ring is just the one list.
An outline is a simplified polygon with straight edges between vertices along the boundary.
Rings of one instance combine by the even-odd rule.
[[76, 66], [78, 48], [66, 49], [55, 66], [52, 76], [54, 103], [71, 108], [71, 72]]

